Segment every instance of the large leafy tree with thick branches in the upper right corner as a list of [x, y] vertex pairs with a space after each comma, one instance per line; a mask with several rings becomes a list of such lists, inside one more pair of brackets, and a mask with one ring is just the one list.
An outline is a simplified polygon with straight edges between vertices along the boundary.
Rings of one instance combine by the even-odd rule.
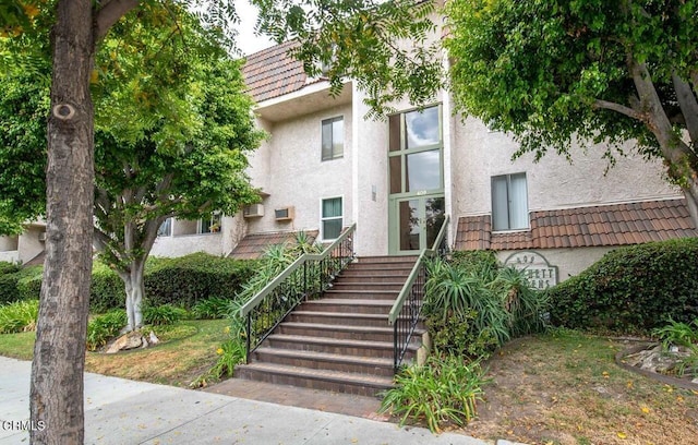
[[520, 153], [575, 139], [659, 157], [698, 226], [698, 1], [454, 0], [450, 86], [461, 111]]

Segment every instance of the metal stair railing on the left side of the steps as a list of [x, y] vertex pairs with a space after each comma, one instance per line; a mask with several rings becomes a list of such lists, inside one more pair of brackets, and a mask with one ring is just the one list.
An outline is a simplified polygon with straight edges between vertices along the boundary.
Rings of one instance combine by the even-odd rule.
[[240, 309], [245, 317], [246, 360], [276, 326], [305, 300], [320, 298], [353, 260], [356, 224], [320, 254], [304, 253]]

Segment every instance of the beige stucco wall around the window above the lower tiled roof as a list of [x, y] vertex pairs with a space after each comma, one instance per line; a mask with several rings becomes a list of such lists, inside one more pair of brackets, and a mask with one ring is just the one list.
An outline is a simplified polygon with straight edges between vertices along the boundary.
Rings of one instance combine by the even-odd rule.
[[457, 124], [454, 133], [455, 216], [491, 213], [491, 177], [517, 172], [527, 173], [530, 212], [681, 196], [664, 180], [661, 163], [647, 163], [633, 153], [618, 157], [604, 175], [607, 161], [601, 157], [602, 146], [576, 146], [571, 165], [555, 153], [539, 163], [532, 154], [513, 161], [518, 145], [505, 133], [490, 132], [471, 118]]

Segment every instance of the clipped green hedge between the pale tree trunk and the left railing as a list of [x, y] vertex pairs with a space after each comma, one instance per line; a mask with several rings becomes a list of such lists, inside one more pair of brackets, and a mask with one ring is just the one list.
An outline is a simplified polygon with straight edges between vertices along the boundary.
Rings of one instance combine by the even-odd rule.
[[147, 304], [172, 304], [191, 309], [212, 296], [233, 299], [254, 274], [256, 262], [193, 253], [178, 258], [159, 258], [146, 267]]

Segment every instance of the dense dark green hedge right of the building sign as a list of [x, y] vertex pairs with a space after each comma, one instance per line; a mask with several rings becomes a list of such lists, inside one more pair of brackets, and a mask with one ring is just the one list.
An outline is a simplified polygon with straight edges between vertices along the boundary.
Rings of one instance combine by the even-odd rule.
[[570, 328], [648, 333], [698, 317], [698, 238], [606, 253], [549, 290], [551, 321]]

